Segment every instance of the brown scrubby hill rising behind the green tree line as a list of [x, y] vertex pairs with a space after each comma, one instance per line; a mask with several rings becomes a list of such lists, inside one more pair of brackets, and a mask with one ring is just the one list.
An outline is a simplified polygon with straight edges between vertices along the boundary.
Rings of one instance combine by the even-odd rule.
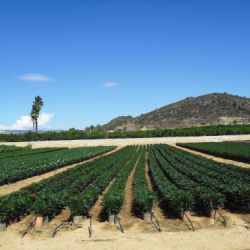
[[131, 131], [220, 124], [250, 124], [250, 98], [227, 93], [188, 97], [138, 117], [117, 117], [99, 128]]

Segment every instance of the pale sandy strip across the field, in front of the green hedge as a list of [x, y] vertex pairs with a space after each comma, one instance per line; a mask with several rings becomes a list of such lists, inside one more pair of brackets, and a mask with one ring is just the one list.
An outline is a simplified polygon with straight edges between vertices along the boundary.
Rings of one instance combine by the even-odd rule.
[[42, 147], [83, 147], [83, 146], [127, 146], [138, 144], [185, 143], [185, 142], [221, 142], [250, 140], [250, 135], [196, 136], [196, 137], [161, 137], [161, 138], [126, 138], [73, 141], [36, 141], [36, 142], [0, 142], [3, 145]]

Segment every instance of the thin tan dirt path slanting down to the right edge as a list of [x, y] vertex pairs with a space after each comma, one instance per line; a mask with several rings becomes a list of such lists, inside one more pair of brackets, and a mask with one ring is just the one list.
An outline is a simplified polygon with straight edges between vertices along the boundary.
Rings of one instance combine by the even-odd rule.
[[242, 168], [250, 168], [250, 164], [248, 164], [248, 163], [234, 161], [234, 160], [229, 160], [229, 159], [224, 159], [224, 158], [220, 158], [220, 157], [217, 157], [217, 156], [213, 156], [213, 155], [201, 153], [201, 152], [198, 152], [198, 151], [195, 151], [195, 150], [192, 150], [192, 149], [188, 149], [188, 148], [177, 146], [176, 144], [171, 144], [171, 146], [174, 146], [176, 148], [182, 149], [183, 151], [190, 152], [192, 154], [203, 156], [205, 158], [208, 158], [210, 160], [214, 160], [214, 161], [217, 161], [217, 162], [220, 162], [220, 163], [231, 164], [231, 165], [235, 165], [237, 167], [242, 167]]

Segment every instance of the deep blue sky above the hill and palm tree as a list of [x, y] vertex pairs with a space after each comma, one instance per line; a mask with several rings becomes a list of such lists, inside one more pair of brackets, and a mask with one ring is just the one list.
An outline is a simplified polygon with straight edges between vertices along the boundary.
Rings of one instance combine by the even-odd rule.
[[0, 129], [83, 128], [250, 93], [250, 1], [0, 0]]

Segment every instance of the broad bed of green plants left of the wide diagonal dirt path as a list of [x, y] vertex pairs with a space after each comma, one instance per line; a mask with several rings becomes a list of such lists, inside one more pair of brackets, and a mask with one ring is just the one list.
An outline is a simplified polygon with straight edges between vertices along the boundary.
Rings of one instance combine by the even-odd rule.
[[0, 185], [40, 175], [101, 155], [114, 147], [85, 147], [0, 159]]

